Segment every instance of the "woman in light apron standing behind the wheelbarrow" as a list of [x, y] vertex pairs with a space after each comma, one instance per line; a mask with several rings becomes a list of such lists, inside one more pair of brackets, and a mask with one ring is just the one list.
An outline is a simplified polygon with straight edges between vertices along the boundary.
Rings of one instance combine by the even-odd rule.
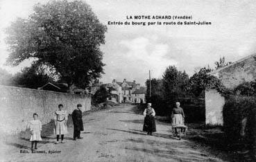
[[[173, 108], [171, 113], [172, 126], [184, 125], [185, 124], [185, 114], [183, 109], [180, 107], [180, 102], [176, 102], [176, 107]], [[178, 134], [176, 129], [176, 134]]]

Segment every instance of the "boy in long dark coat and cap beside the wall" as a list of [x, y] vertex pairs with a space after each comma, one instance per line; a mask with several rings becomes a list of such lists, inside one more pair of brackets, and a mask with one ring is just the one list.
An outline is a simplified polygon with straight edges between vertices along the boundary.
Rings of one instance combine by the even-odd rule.
[[72, 113], [72, 119], [74, 123], [74, 136], [73, 140], [76, 141], [76, 138], [81, 139], [80, 132], [83, 131], [83, 119], [82, 119], [82, 105], [78, 104], [77, 109]]

